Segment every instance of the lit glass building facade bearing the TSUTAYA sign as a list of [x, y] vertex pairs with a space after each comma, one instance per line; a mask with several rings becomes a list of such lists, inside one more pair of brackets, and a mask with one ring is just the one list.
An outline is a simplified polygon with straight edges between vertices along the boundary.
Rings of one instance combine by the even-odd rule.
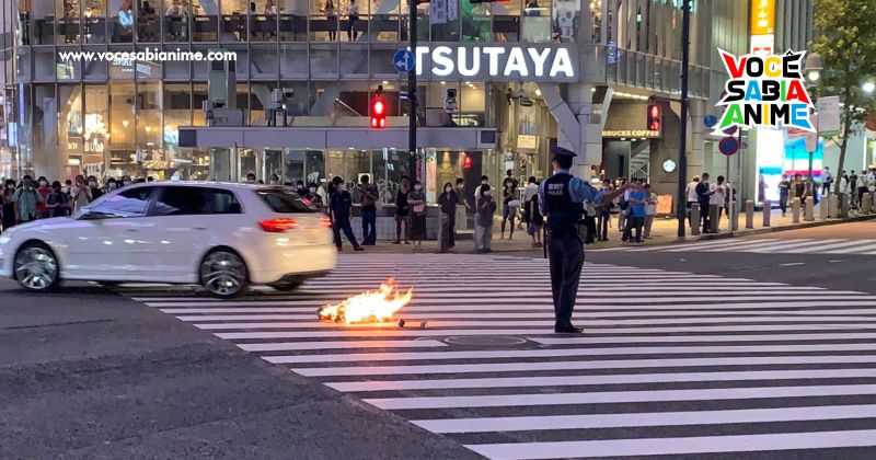
[[[776, 3], [811, 22], [810, 0]], [[456, 177], [498, 182], [508, 169], [545, 177], [558, 143], [581, 153], [581, 174], [647, 176], [658, 193], [675, 187], [664, 165], [678, 156], [680, 0], [418, 4], [415, 152], [405, 131], [407, 76], [392, 59], [410, 46], [404, 0], [0, 5], [0, 176], [239, 181], [253, 172], [319, 183], [371, 174], [389, 191], [407, 174], [434, 194]], [[712, 162], [702, 117], [726, 80], [716, 48], [748, 50], [751, 7], [693, 0], [690, 174]], [[794, 24], [776, 31], [777, 44], [809, 38]], [[65, 58], [146, 50], [234, 59]], [[384, 130], [368, 127], [379, 90]], [[664, 107], [657, 130], [645, 126], [649, 101]], [[217, 108], [209, 119], [205, 102]]]

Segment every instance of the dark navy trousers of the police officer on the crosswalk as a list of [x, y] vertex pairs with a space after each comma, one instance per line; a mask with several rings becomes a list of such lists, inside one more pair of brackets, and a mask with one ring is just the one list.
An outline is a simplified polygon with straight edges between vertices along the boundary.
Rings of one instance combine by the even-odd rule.
[[572, 310], [578, 297], [578, 281], [584, 266], [584, 246], [575, 237], [548, 239], [551, 266], [551, 291], [554, 300], [555, 327], [572, 325]]

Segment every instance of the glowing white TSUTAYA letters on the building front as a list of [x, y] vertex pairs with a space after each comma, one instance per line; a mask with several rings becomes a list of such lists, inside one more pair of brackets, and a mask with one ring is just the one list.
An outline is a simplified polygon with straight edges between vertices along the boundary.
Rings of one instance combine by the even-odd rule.
[[578, 57], [566, 46], [417, 46], [417, 76], [434, 79], [577, 81]]

